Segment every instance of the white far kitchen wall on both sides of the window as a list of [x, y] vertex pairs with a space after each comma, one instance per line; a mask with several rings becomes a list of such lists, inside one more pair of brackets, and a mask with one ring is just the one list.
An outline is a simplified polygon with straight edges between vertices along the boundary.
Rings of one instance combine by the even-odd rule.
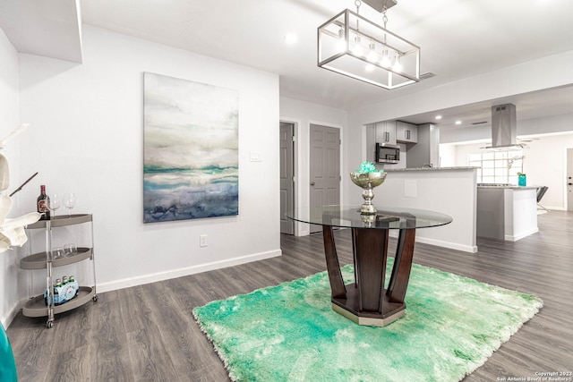
[[[483, 152], [483, 143], [449, 144], [455, 156], [454, 166], [467, 166], [469, 154]], [[544, 134], [527, 142], [529, 149], [524, 150], [524, 173], [527, 185], [547, 186], [541, 204], [549, 209], [565, 209], [567, 204], [567, 149], [573, 148], [573, 132]], [[441, 151], [442, 148], [440, 148]], [[450, 160], [450, 159], [449, 159]]]

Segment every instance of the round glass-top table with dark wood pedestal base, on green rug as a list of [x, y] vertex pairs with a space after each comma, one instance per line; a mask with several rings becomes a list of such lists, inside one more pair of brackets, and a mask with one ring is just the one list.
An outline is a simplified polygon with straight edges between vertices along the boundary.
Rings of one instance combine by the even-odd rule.
[[[299, 222], [322, 225], [332, 309], [359, 325], [384, 327], [406, 313], [406, 289], [414, 255], [415, 230], [451, 223], [450, 216], [413, 208], [378, 208], [361, 215], [359, 207], [303, 208], [286, 214]], [[355, 283], [344, 284], [332, 230], [350, 228]], [[399, 230], [394, 267], [386, 285], [389, 230]]]

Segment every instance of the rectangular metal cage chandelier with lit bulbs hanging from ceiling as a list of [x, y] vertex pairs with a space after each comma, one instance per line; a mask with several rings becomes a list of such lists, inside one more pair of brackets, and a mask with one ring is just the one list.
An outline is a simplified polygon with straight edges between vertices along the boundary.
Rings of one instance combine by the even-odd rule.
[[322, 24], [318, 66], [384, 89], [420, 81], [420, 47], [387, 30], [383, 12], [384, 27], [348, 9]]

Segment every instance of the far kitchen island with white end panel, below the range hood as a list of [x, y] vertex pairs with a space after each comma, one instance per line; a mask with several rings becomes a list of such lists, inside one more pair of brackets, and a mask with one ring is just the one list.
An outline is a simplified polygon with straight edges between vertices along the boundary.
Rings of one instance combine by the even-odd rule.
[[537, 187], [477, 185], [477, 235], [517, 242], [538, 232]]

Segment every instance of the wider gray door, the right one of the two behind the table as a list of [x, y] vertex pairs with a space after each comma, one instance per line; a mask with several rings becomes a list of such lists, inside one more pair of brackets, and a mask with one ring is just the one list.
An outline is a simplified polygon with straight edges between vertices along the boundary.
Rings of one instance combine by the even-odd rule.
[[[340, 204], [340, 130], [311, 124], [311, 208]], [[311, 233], [320, 225], [312, 225]]]

